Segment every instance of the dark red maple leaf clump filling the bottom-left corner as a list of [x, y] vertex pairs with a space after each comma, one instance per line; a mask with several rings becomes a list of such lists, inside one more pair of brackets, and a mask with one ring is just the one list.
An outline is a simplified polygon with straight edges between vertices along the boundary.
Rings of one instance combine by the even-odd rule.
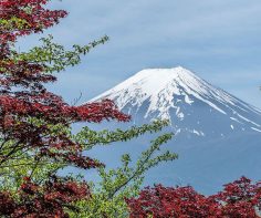
[[0, 215], [13, 218], [67, 218], [64, 208], [76, 210], [72, 204], [91, 197], [85, 183], [51, 177], [42, 186], [24, 178], [19, 197], [0, 193]]

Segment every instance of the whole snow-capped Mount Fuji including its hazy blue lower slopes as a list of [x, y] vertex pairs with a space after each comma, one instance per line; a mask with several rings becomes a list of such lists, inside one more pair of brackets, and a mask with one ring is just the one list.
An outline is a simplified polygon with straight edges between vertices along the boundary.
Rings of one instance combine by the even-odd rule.
[[[211, 194], [243, 175], [261, 178], [261, 111], [189, 70], [143, 70], [90, 102], [103, 98], [113, 100], [137, 125], [170, 121], [167, 131], [176, 136], [166, 148], [179, 159], [150, 170], [147, 184], [192, 185]], [[109, 158], [116, 158], [115, 149]]]

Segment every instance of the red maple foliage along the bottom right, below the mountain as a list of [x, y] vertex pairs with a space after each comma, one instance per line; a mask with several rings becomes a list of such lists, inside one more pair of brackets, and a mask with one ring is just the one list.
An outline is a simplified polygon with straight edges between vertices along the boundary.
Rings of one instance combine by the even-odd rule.
[[261, 211], [261, 184], [242, 177], [217, 195], [203, 196], [192, 187], [157, 185], [126, 199], [130, 217], [145, 218], [258, 218]]

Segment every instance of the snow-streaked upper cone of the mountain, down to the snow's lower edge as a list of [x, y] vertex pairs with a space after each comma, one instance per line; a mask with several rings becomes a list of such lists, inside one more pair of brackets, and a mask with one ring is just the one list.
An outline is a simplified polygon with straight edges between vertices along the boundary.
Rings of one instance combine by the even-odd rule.
[[261, 133], [261, 111], [181, 66], [143, 70], [92, 101], [102, 98], [113, 100], [135, 123], [170, 120], [176, 133]]

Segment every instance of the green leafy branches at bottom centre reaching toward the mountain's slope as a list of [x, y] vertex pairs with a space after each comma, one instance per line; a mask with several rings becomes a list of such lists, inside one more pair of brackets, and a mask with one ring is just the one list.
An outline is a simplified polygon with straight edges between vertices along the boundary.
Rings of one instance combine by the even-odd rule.
[[[92, 132], [90, 145], [97, 142], [108, 144], [115, 141], [127, 141], [147, 132], [158, 132], [163, 126], [167, 125], [167, 123], [166, 121], [157, 121], [152, 125], [132, 127], [129, 131], [122, 132], [119, 129], [116, 132]], [[86, 128], [84, 128], [84, 131], [86, 131]], [[87, 133], [87, 137], [90, 138], [91, 131], [88, 129]], [[80, 135], [83, 137], [83, 134]], [[101, 167], [98, 169], [101, 181], [97, 184], [92, 183], [91, 185], [93, 190], [92, 198], [76, 204], [80, 212], [71, 214], [71, 216], [75, 218], [128, 217], [128, 208], [125, 204], [125, 198], [136, 197], [138, 195], [145, 173], [161, 162], [178, 158], [178, 155], [168, 150], [164, 153], [160, 152], [161, 145], [170, 141], [171, 137], [173, 134], [164, 134], [152, 141], [149, 148], [142, 153], [135, 164], [133, 164], [130, 156], [125, 154], [122, 156], [121, 167], [115, 169]]]

